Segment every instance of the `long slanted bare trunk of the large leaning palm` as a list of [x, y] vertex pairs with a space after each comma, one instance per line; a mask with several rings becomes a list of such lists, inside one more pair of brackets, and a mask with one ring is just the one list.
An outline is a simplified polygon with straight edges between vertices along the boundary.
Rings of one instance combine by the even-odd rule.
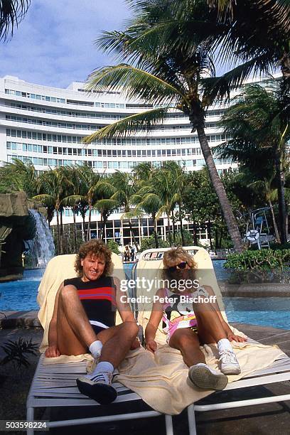
[[198, 139], [200, 141], [200, 148], [203, 151], [203, 157], [205, 159], [206, 166], [208, 166], [208, 172], [210, 174], [210, 180], [213, 183], [213, 188], [218, 196], [220, 202], [220, 208], [227, 224], [227, 230], [232, 239], [235, 251], [242, 252], [244, 249], [242, 237], [240, 235], [235, 216], [232, 213], [232, 207], [227, 199], [227, 193], [225, 187], [220, 180], [215, 162], [213, 161], [213, 154], [211, 154], [210, 147], [208, 146], [208, 139], [205, 136], [205, 130], [203, 127], [196, 127], [198, 132]]

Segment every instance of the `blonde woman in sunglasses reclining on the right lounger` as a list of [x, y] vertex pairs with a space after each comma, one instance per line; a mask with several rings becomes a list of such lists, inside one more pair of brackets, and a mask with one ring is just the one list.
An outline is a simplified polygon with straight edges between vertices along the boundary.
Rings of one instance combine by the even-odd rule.
[[[157, 343], [154, 339], [163, 318], [166, 341], [171, 348], [181, 351], [184, 363], [190, 367], [189, 380], [200, 388], [223, 390], [227, 385], [226, 375], [240, 373], [240, 365], [230, 341], [244, 342], [247, 339], [232, 333], [216, 302], [206, 301], [208, 296], [214, 296], [213, 289], [198, 285], [195, 270], [193, 258], [182, 247], [165, 252], [163, 279], [168, 287], [156, 293], [158, 299], [153, 305], [145, 331], [146, 349], [155, 352]], [[185, 290], [184, 283], [187, 283]], [[192, 303], [196, 298], [199, 300]], [[206, 365], [205, 356], [200, 350], [200, 344], [205, 343], [217, 343], [221, 373]]]

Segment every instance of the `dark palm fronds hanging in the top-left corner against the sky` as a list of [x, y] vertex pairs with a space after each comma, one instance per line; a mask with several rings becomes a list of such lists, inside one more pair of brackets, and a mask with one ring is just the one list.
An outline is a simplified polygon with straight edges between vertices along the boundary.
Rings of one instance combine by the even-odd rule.
[[0, 3], [0, 39], [4, 41], [9, 33], [13, 35], [14, 26], [22, 20], [26, 14], [30, 0], [5, 0]]

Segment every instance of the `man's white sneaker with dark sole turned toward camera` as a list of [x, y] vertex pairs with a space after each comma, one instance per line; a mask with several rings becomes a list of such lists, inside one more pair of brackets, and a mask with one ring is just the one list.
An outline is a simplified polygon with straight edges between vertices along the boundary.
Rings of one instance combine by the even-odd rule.
[[100, 404], [109, 404], [117, 397], [117, 391], [112, 387], [112, 377], [111, 372], [82, 376], [77, 379], [77, 387], [82, 394]]

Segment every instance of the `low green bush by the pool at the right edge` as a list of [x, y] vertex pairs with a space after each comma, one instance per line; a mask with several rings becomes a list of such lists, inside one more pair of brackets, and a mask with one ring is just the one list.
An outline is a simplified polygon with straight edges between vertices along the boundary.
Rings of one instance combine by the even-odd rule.
[[289, 282], [290, 249], [247, 250], [242, 254], [230, 254], [224, 267], [232, 272], [232, 282]]

